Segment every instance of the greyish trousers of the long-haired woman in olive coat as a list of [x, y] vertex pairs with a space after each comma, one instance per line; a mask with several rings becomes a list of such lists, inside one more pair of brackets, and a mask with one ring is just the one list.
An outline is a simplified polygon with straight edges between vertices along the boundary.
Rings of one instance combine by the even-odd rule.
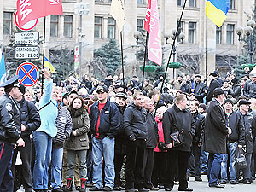
[[[76, 164], [76, 156], [79, 158], [79, 177], [87, 180], [87, 165], [86, 165], [87, 150], [67, 150], [67, 178], [74, 177]], [[77, 185], [76, 185], [77, 186]]]

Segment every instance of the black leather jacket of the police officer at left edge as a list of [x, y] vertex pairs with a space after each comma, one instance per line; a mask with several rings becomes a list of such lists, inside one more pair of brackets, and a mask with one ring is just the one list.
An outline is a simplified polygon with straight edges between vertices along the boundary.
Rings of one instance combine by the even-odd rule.
[[20, 138], [20, 110], [8, 93], [0, 96], [0, 142], [15, 144]]

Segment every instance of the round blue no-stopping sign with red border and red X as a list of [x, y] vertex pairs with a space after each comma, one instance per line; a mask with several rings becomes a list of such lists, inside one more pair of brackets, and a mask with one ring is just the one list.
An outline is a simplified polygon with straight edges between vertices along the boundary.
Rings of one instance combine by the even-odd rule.
[[16, 75], [19, 75], [19, 82], [24, 86], [32, 86], [38, 82], [39, 72], [31, 62], [24, 62], [17, 68]]

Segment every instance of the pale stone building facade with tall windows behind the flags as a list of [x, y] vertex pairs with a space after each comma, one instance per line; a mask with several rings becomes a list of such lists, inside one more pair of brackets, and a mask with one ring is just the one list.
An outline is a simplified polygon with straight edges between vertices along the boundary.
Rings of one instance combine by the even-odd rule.
[[[77, 15], [78, 11], [74, 4], [80, 2], [88, 4], [89, 13]], [[126, 65], [129, 66], [125, 68], [125, 72], [132, 70], [132, 73], [141, 73], [136, 67], [131, 69], [131, 66], [140, 63], [136, 59], [135, 52], [143, 47], [136, 46], [134, 32], [143, 28], [147, 2], [147, 0], [124, 0], [123, 44]], [[172, 46], [171, 38], [166, 44], [165, 34], [171, 33], [172, 29], [177, 27], [184, 2], [185, 0], [158, 0], [164, 61], [168, 61]], [[216, 68], [230, 70], [243, 47], [238, 41], [236, 26], [247, 26], [247, 20], [251, 20], [253, 15], [253, 0], [230, 0], [228, 18], [224, 21], [224, 25], [218, 28], [207, 19], [205, 3], [205, 0], [187, 0], [183, 12], [179, 32], [184, 32], [185, 38], [183, 44], [177, 46], [177, 56], [174, 61], [181, 62], [183, 64], [181, 70], [187, 73], [206, 75]], [[62, 0], [62, 6], [63, 15], [46, 17], [45, 54], [55, 53], [55, 50], [63, 46], [73, 50], [79, 45], [82, 48], [80, 74], [90, 73], [93, 67], [90, 65], [93, 60], [93, 50], [101, 47], [102, 44], [107, 44], [110, 38], [115, 38], [117, 41], [120, 39], [115, 20], [110, 15], [111, 0]], [[0, 0], [1, 49], [7, 47], [9, 39], [17, 31], [14, 22], [15, 11], [15, 0]], [[38, 20], [38, 25], [33, 31], [38, 31], [42, 39], [44, 18]], [[42, 44], [40, 46], [42, 47]], [[41, 52], [42, 50], [41, 48]], [[171, 61], [173, 61], [172, 57]], [[169, 71], [168, 73], [172, 75], [172, 70]], [[177, 73], [180, 72], [177, 70]]]

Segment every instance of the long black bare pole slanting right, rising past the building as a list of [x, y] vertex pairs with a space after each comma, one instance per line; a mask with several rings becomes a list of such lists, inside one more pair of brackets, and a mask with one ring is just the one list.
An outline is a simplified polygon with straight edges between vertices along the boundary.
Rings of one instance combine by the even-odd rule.
[[[162, 93], [162, 90], [163, 90], [163, 87], [164, 87], [164, 84], [165, 84], [165, 81], [166, 81], [166, 74], [167, 74], [167, 70], [168, 70], [168, 64], [169, 64], [169, 62], [171, 61], [172, 52], [173, 52], [173, 49], [175, 48], [175, 42], [176, 42], [176, 39], [177, 39], [177, 32], [178, 32], [178, 29], [179, 29], [179, 27], [180, 27], [181, 20], [182, 20], [182, 18], [183, 18], [183, 12], [184, 12], [186, 3], [187, 3], [187, 0], [185, 0], [185, 2], [183, 3], [183, 10], [182, 10], [182, 13], [181, 13], [181, 15], [180, 15], [180, 18], [179, 18], [179, 20], [178, 20], [177, 29], [176, 29], [175, 36], [174, 36], [173, 43], [172, 43], [172, 49], [171, 49], [171, 52], [170, 52], [170, 55], [169, 55], [169, 58], [168, 58], [168, 61], [167, 61], [167, 64], [166, 64], [166, 72], [165, 72], [165, 75], [164, 75], [163, 83], [161, 84], [160, 94], [159, 94], [158, 101], [157, 101], [157, 104], [156, 104], [156, 105], [158, 105], [158, 103], [159, 103], [159, 101], [160, 101], [160, 96], [161, 96], [161, 93]], [[156, 110], [155, 110], [155, 112], [154, 112], [154, 115], [155, 115], [155, 114], [156, 114]]]

